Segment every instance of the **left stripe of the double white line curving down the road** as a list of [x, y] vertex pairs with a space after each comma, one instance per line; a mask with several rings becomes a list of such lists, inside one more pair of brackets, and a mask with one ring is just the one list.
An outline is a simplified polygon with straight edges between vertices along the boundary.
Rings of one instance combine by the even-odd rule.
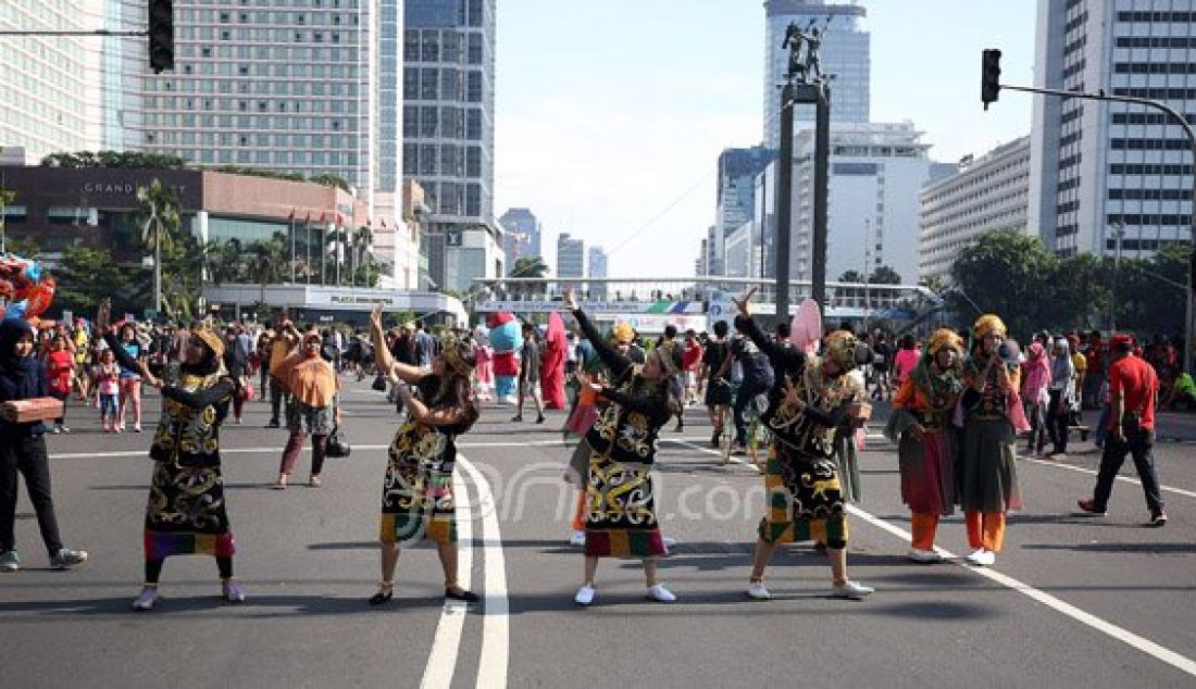
[[[474, 569], [474, 524], [469, 493], [460, 471], [452, 474], [453, 500], [457, 505], [457, 583], [469, 591]], [[445, 600], [437, 623], [437, 635], [432, 640], [428, 665], [423, 669], [421, 689], [450, 689], [452, 675], [457, 670], [457, 653], [460, 651], [460, 633], [465, 627], [466, 603]]]

